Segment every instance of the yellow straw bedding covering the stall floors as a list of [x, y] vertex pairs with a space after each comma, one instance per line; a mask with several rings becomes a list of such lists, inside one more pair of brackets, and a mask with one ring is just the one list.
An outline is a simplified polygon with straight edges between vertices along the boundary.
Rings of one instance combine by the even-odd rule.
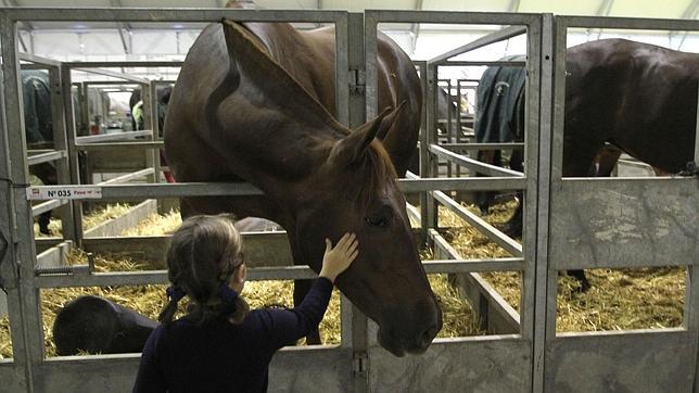
[[[491, 224], [507, 220], [514, 202], [496, 205], [485, 219]], [[94, 226], [102, 220], [124, 214], [128, 205], [112, 205], [86, 217], [85, 226]], [[472, 208], [473, 207], [469, 207]], [[60, 223], [58, 223], [60, 225]], [[123, 236], [148, 236], [170, 233], [180, 224], [179, 214], [152, 215], [138, 227], [125, 230]], [[55, 223], [52, 223], [55, 226]], [[465, 258], [509, 256], [507, 252], [490, 242], [483, 234], [463, 223], [450, 212], [440, 208], [440, 227], [444, 237]], [[55, 229], [52, 228], [52, 229]], [[60, 229], [60, 227], [58, 228]], [[38, 231], [37, 231], [38, 232]], [[422, 258], [431, 258], [430, 250], [421, 250]], [[71, 264], [86, 263], [86, 255], [75, 250]], [[124, 255], [97, 255], [98, 271], [153, 269], [152, 262], [132, 261]], [[683, 268], [587, 270], [593, 288], [580, 293], [576, 281], [562, 275], [558, 280], [557, 331], [599, 331], [622, 329], [647, 329], [677, 327], [682, 324], [685, 292]], [[516, 309], [520, 306], [521, 278], [519, 272], [486, 272], [481, 276]], [[430, 283], [437, 296], [444, 315], [444, 328], [440, 338], [484, 334], [479, 330], [470, 305], [456, 289], [449, 286], [446, 275], [430, 275]], [[164, 304], [164, 286], [69, 288], [41, 291], [46, 350], [55, 356], [51, 327], [55, 313], [68, 301], [84, 295], [104, 296], [120, 305], [156, 318]], [[292, 281], [251, 281], [243, 296], [252, 307], [293, 305]], [[183, 305], [180, 307], [183, 309]], [[340, 342], [340, 295], [335, 290], [326, 318], [320, 325], [323, 343]], [[0, 318], [0, 359], [12, 356], [7, 318]]]

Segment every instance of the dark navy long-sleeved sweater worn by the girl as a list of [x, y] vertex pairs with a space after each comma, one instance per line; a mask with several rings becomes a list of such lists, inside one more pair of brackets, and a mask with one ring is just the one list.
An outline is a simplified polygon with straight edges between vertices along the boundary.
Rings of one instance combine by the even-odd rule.
[[178, 319], [148, 339], [134, 392], [266, 392], [272, 355], [316, 328], [332, 282], [319, 278], [294, 309], [251, 312], [240, 325]]

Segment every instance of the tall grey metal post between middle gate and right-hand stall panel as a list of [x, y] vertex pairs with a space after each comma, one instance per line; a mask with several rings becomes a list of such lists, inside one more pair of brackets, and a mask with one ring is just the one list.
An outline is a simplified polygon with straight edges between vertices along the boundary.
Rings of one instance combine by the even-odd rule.
[[[526, 200], [534, 202], [536, 201], [536, 220], [535, 226], [532, 228], [531, 225], [524, 228], [524, 236], [526, 237], [526, 244], [531, 244], [531, 237], [535, 236], [535, 256], [533, 261], [528, 261], [526, 269], [530, 270], [533, 268], [534, 277], [534, 294], [529, 294], [528, 291], [524, 292], [524, 302], [533, 301], [534, 304], [534, 318], [530, 320], [529, 324], [522, 324], [523, 329], [531, 329], [530, 331], [524, 331], [524, 337], [531, 337], [533, 341], [533, 371], [532, 371], [532, 392], [544, 392], [545, 390], [545, 371], [546, 371], [546, 347], [547, 341], [549, 338], [556, 335], [556, 271], [549, 271], [548, 269], [548, 231], [549, 231], [549, 206], [550, 206], [550, 193], [551, 193], [551, 115], [554, 111], [554, 64], [555, 64], [555, 37], [554, 37], [554, 15], [544, 14], [541, 21], [541, 47], [538, 53], [539, 62], [539, 119], [538, 119], [538, 140], [533, 140], [531, 134], [536, 132], [537, 129], [529, 128], [526, 130], [526, 148], [524, 154], [526, 156], [526, 165], [524, 173], [528, 177], [528, 190], [536, 190], [536, 196], [530, 194], [528, 191]], [[528, 40], [530, 42], [530, 48], [532, 41], [537, 39], [533, 37], [530, 31], [528, 35]], [[532, 53], [534, 54], [534, 53]], [[528, 53], [529, 55], [529, 53]], [[531, 62], [532, 60], [530, 60]], [[531, 72], [531, 65], [528, 62], [528, 72]], [[533, 78], [530, 77], [528, 80], [536, 83]], [[528, 90], [528, 101], [532, 97]], [[530, 111], [533, 110], [528, 102], [528, 115], [533, 115]], [[535, 116], [535, 115], [534, 115]], [[526, 121], [528, 126], [532, 126], [532, 118], [530, 117]], [[532, 132], [533, 131], [533, 132]], [[534, 142], [534, 143], [532, 143]], [[531, 144], [530, 144], [531, 143]], [[537, 144], [535, 144], [537, 143]], [[536, 150], [532, 148], [538, 147]], [[534, 156], [533, 156], [534, 155]], [[538, 157], [538, 168], [534, 173], [533, 168], [530, 167], [531, 163]], [[536, 174], [536, 183], [532, 185], [531, 179], [532, 175]], [[530, 205], [531, 206], [531, 205]], [[530, 208], [531, 211], [531, 208]], [[532, 213], [526, 214], [528, 220], [525, 223], [532, 223]], [[532, 233], [532, 229], [535, 233]], [[529, 248], [526, 248], [529, 249]], [[526, 250], [525, 249], [525, 250]], [[525, 251], [526, 252], [526, 251]], [[525, 257], [530, 257], [530, 252], [526, 252]], [[532, 266], [533, 263], [533, 266]], [[526, 274], [526, 272], [525, 272]], [[525, 288], [531, 286], [529, 278], [525, 279]], [[552, 296], [551, 296], [552, 292]], [[552, 301], [552, 309], [550, 302]], [[552, 329], [552, 331], [550, 330]]]

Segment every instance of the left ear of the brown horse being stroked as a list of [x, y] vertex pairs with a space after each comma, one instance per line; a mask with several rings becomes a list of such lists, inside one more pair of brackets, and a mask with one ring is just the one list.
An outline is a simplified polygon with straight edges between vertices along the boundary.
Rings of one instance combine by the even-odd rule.
[[391, 109], [386, 107], [377, 117], [359, 126], [352, 134], [335, 142], [330, 151], [329, 161], [333, 165], [344, 167], [359, 160], [373, 138], [384, 127], [390, 126], [389, 123], [393, 124], [392, 122], [385, 122], [390, 112]]

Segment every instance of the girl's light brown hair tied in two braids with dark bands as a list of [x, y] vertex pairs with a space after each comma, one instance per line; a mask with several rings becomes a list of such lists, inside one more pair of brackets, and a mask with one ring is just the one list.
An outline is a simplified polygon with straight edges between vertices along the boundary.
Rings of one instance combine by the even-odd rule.
[[[250, 310], [247, 303], [241, 296], [234, 304], [224, 302], [219, 292], [243, 263], [243, 244], [232, 216], [187, 218], [173, 233], [165, 259], [173, 288], [185, 291], [190, 297], [188, 318], [198, 324], [220, 317], [234, 324], [245, 319]], [[175, 312], [177, 300], [170, 299], [157, 319], [167, 325]]]

